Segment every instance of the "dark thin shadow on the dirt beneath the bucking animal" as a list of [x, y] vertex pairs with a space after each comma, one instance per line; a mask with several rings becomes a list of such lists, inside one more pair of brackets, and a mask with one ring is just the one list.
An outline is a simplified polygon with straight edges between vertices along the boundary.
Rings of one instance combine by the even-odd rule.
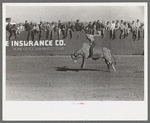
[[[63, 67], [55, 67], [56, 71], [104, 71], [104, 70], [97, 70], [97, 69], [84, 69], [84, 68], [68, 68], [67, 66]], [[109, 71], [104, 71], [104, 72], [109, 72]]]

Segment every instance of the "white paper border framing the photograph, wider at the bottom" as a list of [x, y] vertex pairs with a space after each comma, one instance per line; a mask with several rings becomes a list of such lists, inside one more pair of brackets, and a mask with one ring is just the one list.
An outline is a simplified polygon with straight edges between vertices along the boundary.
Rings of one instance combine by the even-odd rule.
[[[144, 101], [6, 101], [6, 6], [144, 6]], [[4, 121], [63, 121], [63, 120], [148, 120], [148, 3], [3, 3], [3, 120]]]

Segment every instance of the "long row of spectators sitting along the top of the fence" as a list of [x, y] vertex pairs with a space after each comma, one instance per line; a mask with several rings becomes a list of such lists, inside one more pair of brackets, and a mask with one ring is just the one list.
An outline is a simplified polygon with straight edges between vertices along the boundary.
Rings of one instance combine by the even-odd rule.
[[[125, 21], [125, 20], [116, 20], [116, 21], [94, 21], [89, 22], [87, 24], [80, 22], [79, 20], [76, 20], [76, 22], [68, 22], [68, 23], [62, 23], [61, 20], [58, 21], [58, 23], [50, 23], [46, 22], [43, 23], [40, 21], [40, 24], [28, 22], [25, 21], [24, 24], [16, 24], [12, 25], [10, 22], [6, 25], [6, 30], [10, 33], [10, 37], [14, 33], [15, 38], [18, 34], [20, 34], [22, 31], [28, 31], [27, 40], [29, 41], [34, 40], [35, 35], [38, 34], [38, 39], [40, 40], [43, 34], [43, 31], [46, 31], [46, 39], [52, 40], [54, 38], [54, 32], [57, 32], [58, 40], [60, 39], [60, 36], [62, 35], [63, 38], [66, 38], [67, 35], [70, 35], [70, 38], [72, 38], [73, 32], [76, 31], [77, 38], [80, 36], [80, 32], [85, 32], [91, 35], [98, 35], [102, 38], [105, 36], [105, 30], [110, 30], [110, 39], [115, 39], [115, 32], [116, 30], [120, 30], [120, 36], [119, 38], [125, 38], [128, 36], [129, 33], [132, 33], [133, 40], [140, 39], [141, 37], [141, 31], [144, 30], [144, 24], [140, 23], [139, 19], [136, 20], [136, 22], [132, 21]], [[10, 39], [9, 37], [9, 39]]]

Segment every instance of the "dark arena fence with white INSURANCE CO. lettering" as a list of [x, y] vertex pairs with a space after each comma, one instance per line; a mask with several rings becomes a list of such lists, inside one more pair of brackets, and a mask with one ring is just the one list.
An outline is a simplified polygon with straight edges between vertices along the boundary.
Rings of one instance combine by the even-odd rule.
[[[110, 31], [105, 30], [105, 35], [103, 38], [101, 36], [95, 36], [96, 45], [102, 47], [107, 47], [112, 50], [115, 55], [143, 55], [144, 54], [144, 33], [141, 32], [140, 40], [136, 39], [133, 41], [132, 33], [130, 32], [127, 37], [120, 39], [120, 30], [115, 31], [115, 39], [110, 39]], [[79, 36], [77, 32], [73, 32], [72, 38], [68, 34], [65, 39], [60, 37], [57, 40], [57, 32], [54, 32], [54, 39], [52, 41], [46, 40], [46, 32], [42, 33], [41, 41], [46, 41], [46, 46], [41, 46], [38, 44], [38, 36], [35, 36], [35, 40], [30, 43], [35, 43], [34, 46], [22, 46], [23, 42], [27, 41], [28, 32], [21, 32], [16, 39], [11, 39], [7, 41], [8, 46], [6, 47], [6, 55], [8, 56], [46, 56], [46, 55], [70, 55], [73, 51], [80, 48], [80, 46], [89, 41], [86, 39], [85, 32], [80, 32]], [[6, 39], [7, 40], [7, 39]], [[21, 43], [22, 42], [22, 43]], [[18, 46], [17, 46], [18, 45]], [[27, 45], [27, 44], [26, 44]], [[29, 45], [29, 44], [28, 44]]]

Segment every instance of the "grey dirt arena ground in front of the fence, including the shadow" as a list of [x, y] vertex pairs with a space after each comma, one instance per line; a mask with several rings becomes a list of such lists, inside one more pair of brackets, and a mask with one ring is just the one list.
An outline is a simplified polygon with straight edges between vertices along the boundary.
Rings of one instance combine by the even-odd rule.
[[109, 72], [102, 59], [80, 69], [81, 59], [69, 56], [7, 56], [6, 100], [144, 100], [144, 57], [115, 57], [117, 71]]

